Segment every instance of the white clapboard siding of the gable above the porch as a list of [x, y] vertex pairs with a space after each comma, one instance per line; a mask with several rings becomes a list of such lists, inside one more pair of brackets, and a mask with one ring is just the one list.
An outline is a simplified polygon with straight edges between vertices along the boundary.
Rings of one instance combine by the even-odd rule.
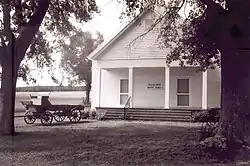
[[144, 21], [153, 18], [155, 17], [152, 11], [146, 12], [140, 20], [135, 22], [108, 49], [102, 52], [99, 60], [166, 57], [168, 49], [159, 48], [157, 41], [159, 33], [157, 30], [149, 32], [147, 35], [133, 42], [131, 47], [128, 47], [131, 41], [147, 31]]

